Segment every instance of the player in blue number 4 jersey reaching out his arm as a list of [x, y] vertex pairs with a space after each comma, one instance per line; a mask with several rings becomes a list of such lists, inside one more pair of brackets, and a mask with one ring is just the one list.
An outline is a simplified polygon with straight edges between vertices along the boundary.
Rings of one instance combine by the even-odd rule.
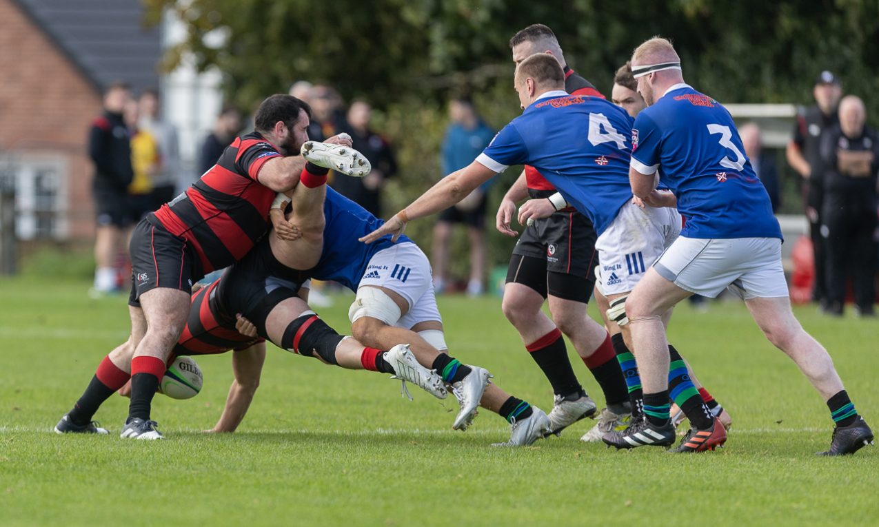
[[[563, 85], [563, 70], [551, 56], [534, 54], [520, 62], [514, 86], [525, 112], [505, 126], [476, 161], [444, 178], [363, 240], [399, 235], [409, 220], [450, 206], [498, 172], [527, 162], [541, 170], [567, 203], [590, 217], [599, 236], [596, 247], [602, 266], [622, 266], [628, 257], [631, 274], [643, 273], [643, 259], [650, 261], [651, 254], [657, 256], [673, 239], [680, 217], [673, 209], [641, 208], [631, 203], [626, 177], [632, 122], [628, 114], [604, 98], [570, 96], [562, 90]], [[523, 208], [519, 210], [520, 221], [530, 218], [527, 207]], [[614, 238], [626, 242], [614, 243]], [[637, 252], [646, 254], [639, 257]], [[615, 278], [607, 278], [611, 285], [628, 283], [630, 278], [620, 274], [623, 277], [614, 274]], [[686, 369], [670, 375], [686, 396], [687, 403], [681, 407], [688, 410], [687, 417], [693, 422], [700, 418], [710, 422], [710, 410]]]

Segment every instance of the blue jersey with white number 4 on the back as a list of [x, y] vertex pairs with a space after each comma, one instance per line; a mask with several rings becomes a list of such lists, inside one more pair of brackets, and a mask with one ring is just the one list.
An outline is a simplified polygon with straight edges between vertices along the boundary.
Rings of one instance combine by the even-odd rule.
[[476, 161], [496, 172], [533, 166], [600, 235], [632, 198], [631, 127], [628, 113], [603, 98], [550, 91], [512, 119]]

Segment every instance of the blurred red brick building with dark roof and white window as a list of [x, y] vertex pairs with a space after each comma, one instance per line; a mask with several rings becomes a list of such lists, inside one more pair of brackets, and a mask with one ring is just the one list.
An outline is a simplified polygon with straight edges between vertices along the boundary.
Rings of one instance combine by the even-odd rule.
[[19, 238], [91, 240], [102, 87], [157, 87], [160, 54], [138, 0], [0, 0], [0, 177], [15, 182]]

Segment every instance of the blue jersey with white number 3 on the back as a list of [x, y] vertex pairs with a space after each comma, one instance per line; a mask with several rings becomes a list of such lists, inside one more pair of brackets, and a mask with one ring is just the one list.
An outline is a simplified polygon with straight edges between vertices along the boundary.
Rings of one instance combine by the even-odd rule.
[[632, 168], [659, 170], [678, 198], [688, 238], [781, 238], [766, 188], [745, 156], [730, 112], [686, 84], [635, 119]]

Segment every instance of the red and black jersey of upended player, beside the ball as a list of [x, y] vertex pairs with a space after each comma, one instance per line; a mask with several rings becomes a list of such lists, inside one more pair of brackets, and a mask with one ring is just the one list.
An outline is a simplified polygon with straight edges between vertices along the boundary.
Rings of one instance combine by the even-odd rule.
[[213, 355], [243, 350], [265, 339], [243, 336], [235, 328], [235, 318], [222, 314], [214, 301], [220, 280], [193, 293], [193, 303], [183, 333], [174, 346], [174, 355]]

